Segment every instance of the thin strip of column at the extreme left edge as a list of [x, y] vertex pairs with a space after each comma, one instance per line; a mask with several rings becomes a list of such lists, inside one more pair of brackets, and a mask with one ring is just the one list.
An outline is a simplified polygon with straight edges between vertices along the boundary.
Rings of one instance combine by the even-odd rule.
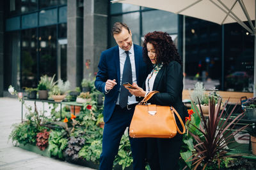
[[4, 90], [4, 3], [0, 1], [0, 97]]

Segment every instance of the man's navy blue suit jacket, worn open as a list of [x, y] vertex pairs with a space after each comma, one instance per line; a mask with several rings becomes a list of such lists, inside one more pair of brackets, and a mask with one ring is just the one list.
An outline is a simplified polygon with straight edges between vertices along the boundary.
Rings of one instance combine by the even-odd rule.
[[[143, 82], [147, 78], [148, 70], [142, 57], [142, 47], [134, 45], [134, 59], [136, 67], [136, 80], [139, 87], [142, 87]], [[104, 101], [104, 122], [108, 122], [115, 109], [116, 100], [120, 92], [120, 59], [119, 59], [119, 48], [114, 46], [105, 50], [101, 53], [99, 62], [99, 71], [95, 80], [95, 87], [100, 92], [105, 94]], [[107, 80], [116, 80], [116, 85], [107, 94], [105, 93], [105, 84]], [[138, 100], [138, 98], [137, 98]]]

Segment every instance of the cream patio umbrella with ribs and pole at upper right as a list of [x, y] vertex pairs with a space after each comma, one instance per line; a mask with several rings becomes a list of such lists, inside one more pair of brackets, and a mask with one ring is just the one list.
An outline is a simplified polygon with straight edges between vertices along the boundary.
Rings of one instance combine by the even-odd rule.
[[[237, 22], [255, 37], [254, 87], [256, 85], [256, 0], [114, 0], [112, 3], [135, 4], [180, 15], [208, 20], [216, 24]], [[248, 21], [248, 25], [244, 24]], [[256, 96], [255, 88], [253, 96]]]

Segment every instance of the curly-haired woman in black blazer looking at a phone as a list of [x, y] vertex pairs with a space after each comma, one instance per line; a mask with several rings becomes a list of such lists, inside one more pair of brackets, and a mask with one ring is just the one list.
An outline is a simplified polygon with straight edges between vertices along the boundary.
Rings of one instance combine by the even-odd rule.
[[[172, 38], [166, 32], [149, 32], [143, 42], [143, 57], [147, 64], [153, 64], [154, 67], [148, 74], [145, 87], [142, 89], [133, 83], [136, 89], [127, 89], [137, 97], [145, 97], [152, 90], [159, 91], [148, 103], [173, 106], [184, 121], [188, 112], [182, 103], [182, 61]], [[176, 120], [181, 128], [179, 120]], [[148, 138], [147, 143], [148, 162], [152, 170], [179, 169], [182, 135], [177, 133], [172, 139]]]

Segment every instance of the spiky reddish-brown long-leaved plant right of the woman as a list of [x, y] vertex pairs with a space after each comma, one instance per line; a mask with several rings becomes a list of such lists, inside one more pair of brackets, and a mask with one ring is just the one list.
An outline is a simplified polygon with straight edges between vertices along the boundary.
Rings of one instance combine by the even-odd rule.
[[[200, 102], [198, 102], [200, 104]], [[195, 104], [192, 102], [195, 107]], [[218, 99], [218, 104], [215, 106], [215, 101], [213, 98], [210, 98], [209, 102], [209, 118], [206, 120], [204, 114], [202, 113], [202, 108], [200, 105], [200, 120], [202, 124], [200, 128], [195, 127], [198, 131], [202, 133], [201, 135], [194, 134], [193, 132], [189, 132], [191, 136], [195, 139], [196, 145], [194, 146], [196, 152], [193, 153], [191, 161], [193, 161], [194, 169], [196, 169], [200, 164], [203, 165], [202, 169], [212, 164], [212, 162], [218, 162], [218, 167], [220, 168], [221, 159], [225, 157], [231, 157], [234, 155], [225, 155], [227, 150], [228, 143], [232, 143], [232, 136], [236, 135], [238, 132], [243, 131], [247, 127], [247, 125], [237, 129], [232, 132], [235, 125], [241, 117], [244, 116], [244, 113], [239, 114], [236, 118], [232, 119], [230, 122], [228, 119], [232, 115], [234, 109], [228, 114], [225, 113], [223, 115], [224, 109], [227, 106], [227, 103], [224, 106], [224, 109], [220, 112], [220, 104], [221, 99]], [[199, 115], [198, 110], [196, 113]], [[225, 119], [223, 119], [225, 117]]]

